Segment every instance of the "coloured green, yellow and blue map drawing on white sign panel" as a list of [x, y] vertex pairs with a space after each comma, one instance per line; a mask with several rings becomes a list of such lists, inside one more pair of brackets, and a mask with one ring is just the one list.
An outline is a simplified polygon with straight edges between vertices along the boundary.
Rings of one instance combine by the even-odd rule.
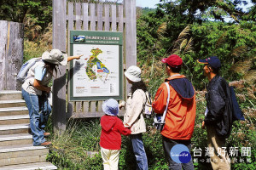
[[90, 52], [92, 55], [90, 55], [90, 59], [87, 61], [85, 68], [87, 76], [90, 80], [95, 80], [96, 78], [104, 78], [104, 80], [106, 80], [110, 71], [106, 65], [98, 59], [98, 55], [102, 54], [102, 50], [100, 48], [93, 48]]

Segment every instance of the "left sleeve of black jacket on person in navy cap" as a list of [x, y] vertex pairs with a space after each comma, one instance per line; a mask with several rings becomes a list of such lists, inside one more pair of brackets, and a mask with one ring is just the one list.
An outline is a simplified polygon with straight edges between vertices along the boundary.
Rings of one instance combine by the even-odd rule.
[[225, 109], [225, 101], [217, 91], [210, 91], [208, 94], [207, 116], [205, 117], [205, 124], [218, 121]]

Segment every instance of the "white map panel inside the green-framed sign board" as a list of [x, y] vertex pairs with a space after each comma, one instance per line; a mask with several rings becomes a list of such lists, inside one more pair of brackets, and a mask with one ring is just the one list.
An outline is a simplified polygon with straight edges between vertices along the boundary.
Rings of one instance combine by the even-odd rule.
[[119, 45], [74, 44], [73, 96], [119, 95]]

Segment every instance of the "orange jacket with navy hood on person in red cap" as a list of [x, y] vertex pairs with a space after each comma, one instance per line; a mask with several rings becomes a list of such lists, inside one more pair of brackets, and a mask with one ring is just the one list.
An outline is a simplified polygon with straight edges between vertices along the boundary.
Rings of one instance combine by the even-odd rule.
[[[170, 100], [166, 112], [166, 124], [161, 134], [169, 139], [189, 140], [195, 125], [195, 89], [183, 75], [169, 77], [165, 82], [170, 85]], [[170, 82], [170, 83], [171, 83]], [[163, 114], [167, 103], [165, 83], [158, 88], [152, 104], [154, 112]]]

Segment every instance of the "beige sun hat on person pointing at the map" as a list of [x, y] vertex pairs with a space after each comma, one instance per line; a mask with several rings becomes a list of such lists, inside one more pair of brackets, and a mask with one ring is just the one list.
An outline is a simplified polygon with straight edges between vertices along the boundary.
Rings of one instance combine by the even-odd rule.
[[67, 65], [67, 54], [59, 49], [45, 51], [42, 59], [55, 65]]

